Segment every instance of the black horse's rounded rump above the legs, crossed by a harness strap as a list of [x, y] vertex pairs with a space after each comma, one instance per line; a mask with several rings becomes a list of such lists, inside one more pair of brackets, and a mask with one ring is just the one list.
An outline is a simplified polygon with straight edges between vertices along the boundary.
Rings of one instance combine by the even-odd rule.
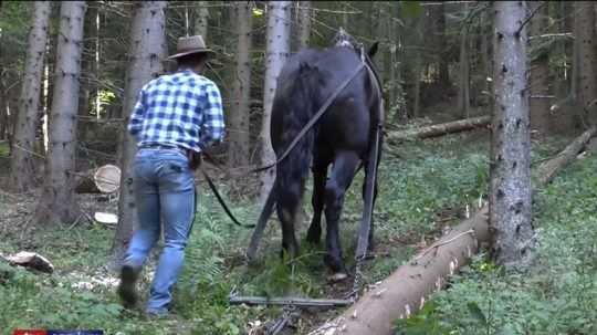
[[[283, 125], [289, 124], [289, 118], [306, 124], [360, 62], [358, 54], [349, 48], [307, 49], [289, 59], [279, 75], [272, 109], [274, 150], [289, 140], [283, 138], [286, 134]], [[353, 150], [362, 157], [366, 155], [371, 136], [370, 116], [377, 113], [374, 111], [376, 94], [370, 80], [364, 69], [337, 93], [315, 126], [315, 146], [318, 150]], [[302, 90], [297, 90], [298, 86]], [[308, 86], [307, 92], [305, 86]]]

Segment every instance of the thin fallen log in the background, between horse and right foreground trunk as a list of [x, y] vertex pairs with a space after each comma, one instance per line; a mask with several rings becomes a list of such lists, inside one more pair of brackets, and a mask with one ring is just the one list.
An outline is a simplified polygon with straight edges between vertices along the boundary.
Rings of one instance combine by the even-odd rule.
[[460, 133], [464, 130], [471, 130], [479, 127], [488, 126], [491, 123], [490, 116], [480, 116], [465, 118], [444, 124], [437, 124], [431, 126], [425, 126], [411, 130], [394, 130], [386, 135], [388, 142], [402, 142], [412, 138], [430, 138], [442, 136], [446, 134]]

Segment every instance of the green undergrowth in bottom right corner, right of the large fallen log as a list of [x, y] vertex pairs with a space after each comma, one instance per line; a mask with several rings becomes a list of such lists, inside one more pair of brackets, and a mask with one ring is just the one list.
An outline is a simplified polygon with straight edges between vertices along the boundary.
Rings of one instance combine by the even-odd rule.
[[596, 170], [593, 153], [537, 190], [540, 243], [524, 273], [480, 255], [397, 334], [597, 334]]

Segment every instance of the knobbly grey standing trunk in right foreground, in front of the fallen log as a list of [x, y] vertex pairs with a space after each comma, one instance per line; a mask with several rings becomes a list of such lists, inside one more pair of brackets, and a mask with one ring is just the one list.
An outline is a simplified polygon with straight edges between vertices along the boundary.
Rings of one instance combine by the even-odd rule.
[[499, 264], [522, 264], [533, 247], [525, 2], [494, 2], [495, 114], [490, 222]]

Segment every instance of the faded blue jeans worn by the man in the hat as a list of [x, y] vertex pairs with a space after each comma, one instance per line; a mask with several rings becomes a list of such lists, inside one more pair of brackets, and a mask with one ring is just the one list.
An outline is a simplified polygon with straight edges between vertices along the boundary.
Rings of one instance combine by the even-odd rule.
[[124, 264], [143, 268], [160, 234], [164, 249], [151, 283], [147, 312], [168, 311], [171, 291], [185, 260], [195, 214], [195, 182], [188, 158], [176, 149], [139, 149], [134, 163], [134, 190], [139, 227]]

